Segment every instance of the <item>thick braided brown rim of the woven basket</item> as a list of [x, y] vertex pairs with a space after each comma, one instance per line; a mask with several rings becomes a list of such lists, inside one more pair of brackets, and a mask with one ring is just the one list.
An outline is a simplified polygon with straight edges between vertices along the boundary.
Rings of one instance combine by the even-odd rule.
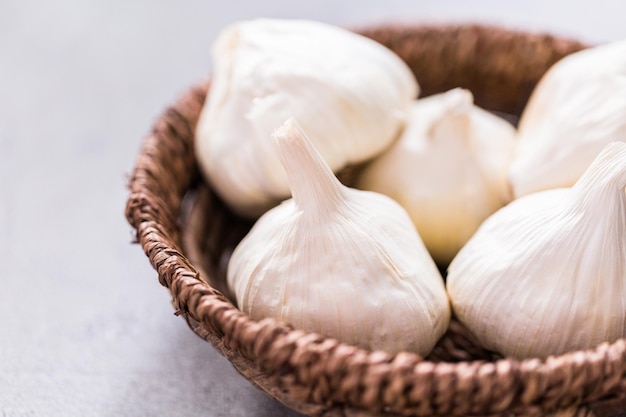
[[[527, 34], [464, 24], [380, 24], [377, 30], [406, 33], [415, 27]], [[548, 410], [596, 401], [607, 393], [624, 395], [626, 339], [545, 359], [435, 363], [415, 353], [365, 351], [274, 319], [255, 321], [240, 311], [200, 279], [181, 249], [177, 224], [184, 193], [198, 180], [190, 138], [209, 84], [204, 80], [191, 87], [157, 119], [128, 184], [127, 221], [159, 281], [170, 290], [177, 314], [201, 323], [224, 349], [259, 364], [282, 383], [306, 387], [303, 401], [377, 411], [413, 408], [428, 415], [461, 409], [468, 413]]]

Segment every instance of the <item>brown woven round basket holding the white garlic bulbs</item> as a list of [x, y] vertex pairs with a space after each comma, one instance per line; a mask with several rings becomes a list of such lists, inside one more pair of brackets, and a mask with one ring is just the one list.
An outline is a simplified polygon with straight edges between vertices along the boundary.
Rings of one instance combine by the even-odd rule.
[[[381, 25], [357, 32], [395, 51], [422, 96], [454, 87], [513, 122], [543, 73], [585, 45], [479, 25]], [[126, 217], [176, 314], [252, 384], [315, 416], [626, 416], [626, 340], [524, 361], [482, 349], [457, 321], [427, 358], [369, 352], [232, 303], [226, 265], [252, 223], [203, 182], [194, 129], [209, 81], [156, 121], [130, 179]], [[350, 175], [342, 180], [350, 183]], [[217, 381], [216, 381], [217, 382]]]

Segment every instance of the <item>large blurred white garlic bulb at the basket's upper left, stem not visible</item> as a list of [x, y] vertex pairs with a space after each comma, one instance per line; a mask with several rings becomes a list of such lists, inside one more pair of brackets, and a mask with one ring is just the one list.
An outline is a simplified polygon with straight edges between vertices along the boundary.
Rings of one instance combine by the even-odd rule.
[[288, 117], [300, 121], [337, 171], [396, 139], [419, 89], [383, 45], [306, 20], [234, 24], [215, 42], [213, 62], [196, 154], [213, 189], [248, 217], [289, 197], [270, 141]]

